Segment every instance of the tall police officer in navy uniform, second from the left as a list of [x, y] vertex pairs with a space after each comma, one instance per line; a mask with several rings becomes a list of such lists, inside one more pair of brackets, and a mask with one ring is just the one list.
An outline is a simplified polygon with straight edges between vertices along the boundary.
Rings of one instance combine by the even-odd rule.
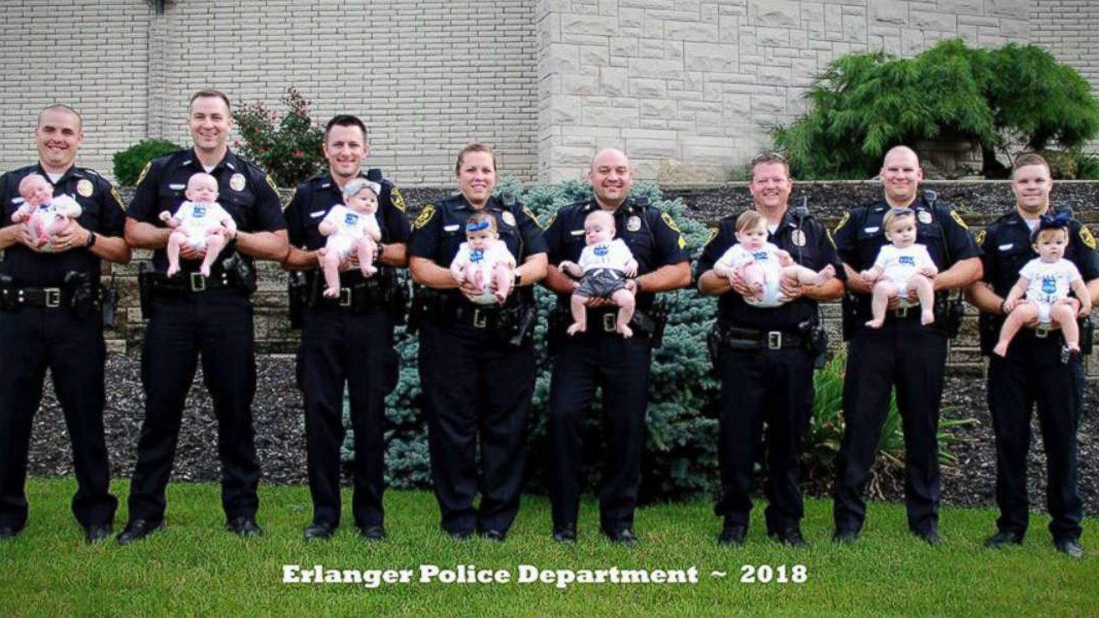
[[[142, 352], [145, 421], [137, 441], [137, 463], [130, 486], [130, 521], [120, 543], [143, 539], [164, 525], [164, 489], [175, 457], [187, 391], [199, 354], [218, 417], [218, 452], [222, 463], [222, 507], [226, 528], [241, 536], [259, 534], [252, 399], [256, 389], [252, 305], [253, 258], [281, 261], [286, 223], [275, 184], [226, 146], [232, 130], [229, 99], [217, 90], [196, 92], [188, 108], [195, 146], [153, 159], [145, 168], [127, 211], [126, 242], [154, 250], [156, 274]], [[171, 230], [158, 219], [186, 199], [193, 174], [218, 180], [221, 206], [233, 217], [231, 235], [210, 277], [198, 272], [203, 255], [180, 252], [182, 272], [168, 278], [164, 247]], [[226, 234], [227, 235], [227, 234]]]

